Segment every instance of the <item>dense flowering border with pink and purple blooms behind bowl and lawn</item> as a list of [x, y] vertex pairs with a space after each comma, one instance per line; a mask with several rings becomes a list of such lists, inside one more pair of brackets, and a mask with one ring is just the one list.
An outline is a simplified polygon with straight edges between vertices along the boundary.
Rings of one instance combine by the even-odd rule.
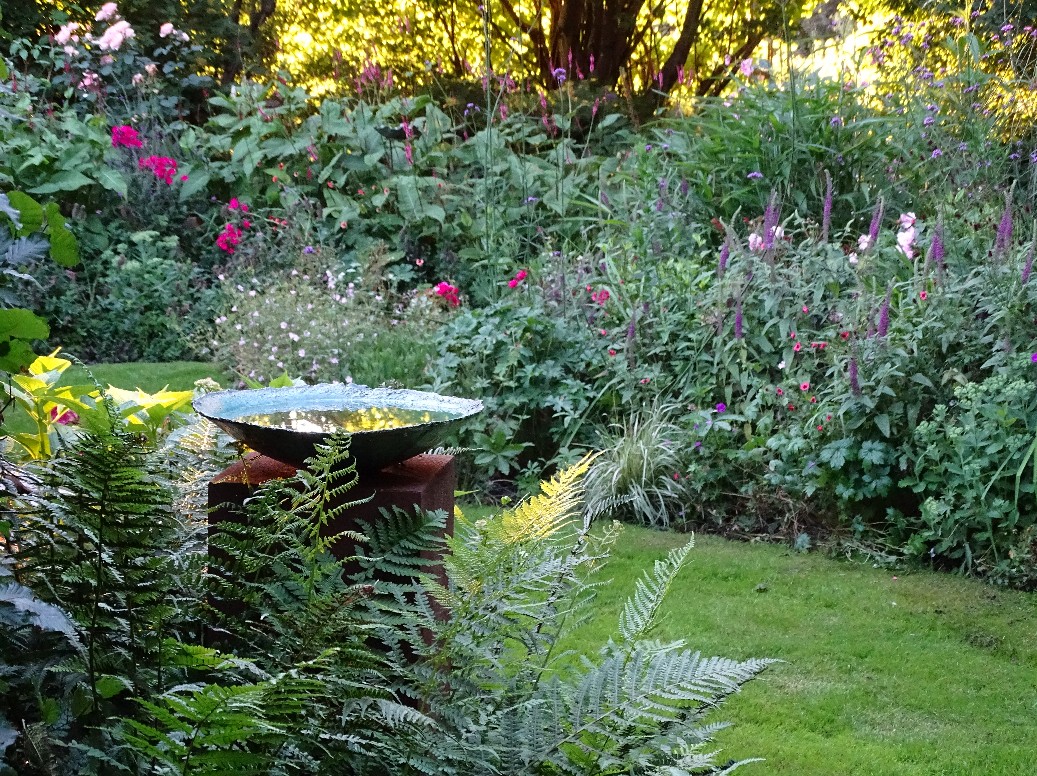
[[757, 62], [647, 123], [506, 76], [481, 107], [245, 80], [199, 117], [132, 38], [107, 65], [23, 43], [0, 218], [79, 260], [8, 254], [7, 303], [50, 326], [9, 339], [478, 396], [480, 490], [608, 444], [617, 516], [1030, 587], [1037, 146], [1004, 68], [1033, 31], [895, 25], [867, 70]]

